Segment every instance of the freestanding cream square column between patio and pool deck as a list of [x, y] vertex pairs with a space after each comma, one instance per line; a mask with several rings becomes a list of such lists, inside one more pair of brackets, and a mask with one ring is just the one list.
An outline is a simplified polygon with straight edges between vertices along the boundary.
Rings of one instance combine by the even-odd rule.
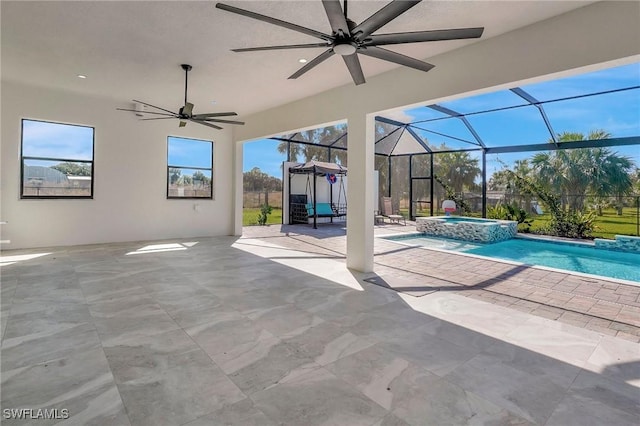
[[374, 117], [348, 117], [347, 267], [373, 271]]

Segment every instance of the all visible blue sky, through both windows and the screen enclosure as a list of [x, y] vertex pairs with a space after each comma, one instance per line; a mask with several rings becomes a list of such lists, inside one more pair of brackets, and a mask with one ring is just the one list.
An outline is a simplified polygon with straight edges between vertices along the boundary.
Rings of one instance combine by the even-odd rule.
[[[633, 90], [543, 104], [554, 133], [565, 131], [588, 134], [605, 130], [612, 137], [640, 136], [640, 63], [609, 68], [592, 73], [521, 86], [537, 100], [544, 102], [564, 97], [613, 89], [636, 87]], [[440, 105], [460, 113], [525, 105], [526, 102], [509, 90], [460, 98]], [[386, 114], [385, 114], [386, 115]], [[394, 111], [396, 120], [405, 123], [447, 117], [427, 107]], [[468, 121], [486, 146], [539, 144], [549, 141], [550, 134], [538, 109], [526, 105], [505, 111], [467, 116]], [[474, 141], [461, 120], [447, 118], [415, 124], [417, 133], [431, 145], [446, 143], [452, 148], [474, 147], [458, 139]], [[420, 128], [424, 130], [420, 130]], [[93, 158], [92, 127], [23, 120], [23, 155], [45, 158], [88, 160]], [[454, 138], [442, 136], [451, 135]], [[215, 140], [215, 135], [213, 135]], [[211, 167], [211, 142], [177, 137], [168, 138], [168, 162], [186, 168]], [[163, 141], [167, 143], [167, 141]], [[254, 167], [281, 178], [285, 154], [277, 150], [279, 141], [261, 139], [244, 145], [243, 170]], [[640, 145], [611, 148], [630, 157], [640, 167]], [[215, 156], [215, 152], [213, 153]], [[533, 153], [501, 154], [487, 158], [487, 175]], [[478, 158], [479, 153], [474, 153]], [[29, 160], [30, 165], [51, 166], [57, 161]], [[214, 162], [215, 164], [215, 162]], [[163, 165], [164, 166], [164, 165]]]

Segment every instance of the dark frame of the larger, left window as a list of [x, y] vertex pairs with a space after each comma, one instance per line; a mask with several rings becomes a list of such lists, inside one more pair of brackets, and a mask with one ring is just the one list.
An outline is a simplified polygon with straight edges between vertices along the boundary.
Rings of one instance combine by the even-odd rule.
[[[72, 160], [69, 158], [57, 157], [34, 157], [24, 155], [24, 123], [25, 121], [35, 121], [39, 123], [60, 124], [64, 126], [84, 127], [91, 129], [91, 160]], [[20, 199], [21, 200], [93, 200], [93, 190], [95, 181], [95, 156], [96, 156], [96, 128], [84, 124], [63, 123], [61, 121], [39, 120], [33, 118], [22, 118], [20, 120]], [[24, 166], [25, 160], [59, 161], [61, 163], [83, 163], [91, 165], [91, 187], [89, 195], [25, 195], [24, 193]]]

